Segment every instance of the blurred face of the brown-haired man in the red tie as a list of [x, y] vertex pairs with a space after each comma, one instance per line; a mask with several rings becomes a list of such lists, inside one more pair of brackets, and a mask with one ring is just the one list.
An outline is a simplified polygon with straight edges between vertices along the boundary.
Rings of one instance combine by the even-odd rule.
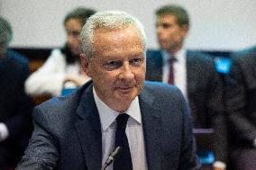
[[169, 52], [182, 48], [187, 36], [187, 25], [178, 25], [177, 18], [171, 14], [163, 14], [157, 19], [157, 35], [160, 47]]

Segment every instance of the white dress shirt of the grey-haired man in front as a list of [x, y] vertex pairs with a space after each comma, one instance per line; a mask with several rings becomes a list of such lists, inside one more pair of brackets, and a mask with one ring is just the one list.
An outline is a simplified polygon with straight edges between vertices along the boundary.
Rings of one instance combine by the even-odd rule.
[[[114, 111], [113, 109], [109, 108], [104, 102], [102, 102], [96, 95], [95, 89], [94, 97], [101, 122], [103, 156], [102, 166], [104, 166], [105, 160], [114, 150], [116, 129], [115, 118], [118, 116], [119, 112]], [[130, 107], [125, 113], [130, 115], [127, 121], [125, 133], [131, 151], [133, 170], [147, 170], [148, 167], [146, 162], [146, 152], [142, 130], [142, 114], [138, 97], [133, 100]], [[113, 170], [113, 164], [108, 166], [106, 170]]]

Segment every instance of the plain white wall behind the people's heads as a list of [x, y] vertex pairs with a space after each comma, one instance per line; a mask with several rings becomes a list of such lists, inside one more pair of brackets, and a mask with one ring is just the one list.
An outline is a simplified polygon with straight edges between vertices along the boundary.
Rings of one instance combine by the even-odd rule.
[[78, 5], [123, 10], [142, 21], [149, 47], [158, 48], [154, 12], [169, 3], [181, 4], [190, 14], [190, 49], [243, 49], [256, 44], [255, 0], [0, 0], [0, 14], [13, 26], [13, 47], [52, 48], [65, 42], [63, 18]]

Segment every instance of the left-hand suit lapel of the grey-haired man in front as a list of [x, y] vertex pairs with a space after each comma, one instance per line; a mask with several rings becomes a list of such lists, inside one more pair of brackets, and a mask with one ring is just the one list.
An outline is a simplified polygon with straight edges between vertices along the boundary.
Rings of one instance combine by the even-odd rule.
[[81, 119], [77, 121], [76, 129], [87, 169], [98, 170], [102, 164], [102, 136], [92, 85], [82, 94], [77, 113]]

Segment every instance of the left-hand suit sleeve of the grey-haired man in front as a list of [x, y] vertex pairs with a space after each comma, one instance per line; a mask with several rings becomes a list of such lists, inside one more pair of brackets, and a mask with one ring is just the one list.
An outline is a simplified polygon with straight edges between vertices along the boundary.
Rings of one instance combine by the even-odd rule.
[[33, 112], [34, 130], [28, 148], [15, 170], [56, 169], [59, 157], [58, 144], [50, 131], [50, 122], [40, 107]]

